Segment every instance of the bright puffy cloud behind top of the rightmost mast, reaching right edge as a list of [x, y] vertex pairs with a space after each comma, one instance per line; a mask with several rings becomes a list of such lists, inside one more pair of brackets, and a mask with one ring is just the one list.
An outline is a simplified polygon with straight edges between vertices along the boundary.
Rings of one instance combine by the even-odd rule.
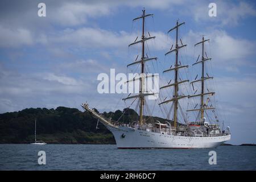
[[[205, 43], [205, 51], [208, 57], [212, 57], [214, 64], [228, 65], [228, 71], [238, 71], [237, 66], [247, 64], [250, 60], [245, 57], [254, 55], [256, 43], [250, 40], [234, 38], [223, 30], [213, 30], [212, 32], [189, 31], [184, 36], [188, 43], [188, 54], [197, 58], [201, 55], [201, 45], [194, 48], [194, 44], [201, 41], [200, 35], [206, 35], [205, 39], [210, 39], [210, 43]], [[245, 48], [246, 47], [246, 48]], [[194, 52], [195, 51], [195, 52]]]

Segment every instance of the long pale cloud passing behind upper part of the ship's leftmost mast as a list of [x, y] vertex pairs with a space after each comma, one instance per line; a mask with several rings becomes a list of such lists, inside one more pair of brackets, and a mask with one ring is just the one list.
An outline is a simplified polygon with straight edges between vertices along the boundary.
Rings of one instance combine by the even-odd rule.
[[[65, 29], [59, 32], [56, 36], [49, 38], [52, 43], [66, 44], [76, 47], [85, 48], [118, 48], [127, 49], [130, 43], [133, 43], [141, 32], [129, 34], [126, 31], [113, 32], [100, 28], [78, 28]], [[156, 36], [155, 40], [148, 40], [147, 44], [152, 46], [152, 49], [163, 50], [168, 49], [167, 35], [163, 32], [150, 32], [151, 36]]]

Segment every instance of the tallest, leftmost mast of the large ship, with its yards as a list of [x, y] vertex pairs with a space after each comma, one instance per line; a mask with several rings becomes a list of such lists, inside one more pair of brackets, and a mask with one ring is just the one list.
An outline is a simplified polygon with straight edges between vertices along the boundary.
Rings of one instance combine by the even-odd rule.
[[[150, 36], [150, 34], [148, 33], [148, 37], [145, 36], [144, 34], [144, 24], [145, 24], [145, 18], [147, 16], [153, 16], [153, 14], [145, 14], [145, 10], [143, 9], [142, 10], [142, 15], [139, 16], [138, 18], [135, 18], [133, 19], [134, 20], [138, 20], [138, 19], [142, 19], [142, 36], [141, 36], [141, 40], [138, 40], [134, 43], [131, 43], [129, 45], [130, 46], [133, 46], [134, 44], [137, 44], [137, 43], [142, 43], [142, 53], [141, 53], [141, 60], [137, 61], [137, 59], [134, 61], [134, 63], [131, 63], [129, 65], [127, 65], [127, 67], [129, 67], [130, 65], [134, 65], [134, 64], [141, 64], [141, 76], [139, 77], [139, 81], [140, 81], [140, 89], [139, 89], [139, 94], [137, 96], [130, 96], [130, 97], [127, 97], [127, 98], [124, 98], [123, 100], [126, 100], [126, 99], [129, 99], [129, 98], [139, 98], [139, 102], [140, 102], [140, 106], [139, 106], [139, 125], [142, 126], [143, 125], [143, 107], [145, 105], [145, 99], [144, 97], [145, 96], [150, 96], [150, 95], [154, 95], [155, 93], [146, 93], [145, 90], [144, 90], [144, 63], [146, 61], [150, 61], [150, 60], [157, 60], [157, 57], [152, 57], [152, 58], [148, 58], [148, 57], [145, 57], [145, 48], [144, 48], [144, 43], [146, 42], [146, 40], [150, 40], [150, 39], [155, 39], [155, 36]], [[138, 58], [138, 57], [137, 57]], [[130, 81], [135, 81], [136, 79], [133, 79], [133, 80], [129, 80], [127, 82], [130, 82]]]

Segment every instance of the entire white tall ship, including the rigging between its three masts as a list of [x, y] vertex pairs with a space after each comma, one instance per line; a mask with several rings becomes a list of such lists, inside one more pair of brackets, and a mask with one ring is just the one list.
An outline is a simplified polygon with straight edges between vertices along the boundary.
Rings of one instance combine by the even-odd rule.
[[[146, 42], [150, 39], [155, 39], [155, 36], [150, 36], [149, 32], [145, 34], [145, 20], [148, 16], [153, 15], [146, 14], [145, 10], [142, 10], [142, 15], [133, 19], [142, 20], [142, 36], [141, 40], [137, 40], [137, 37], [135, 42], [129, 45], [130, 47], [135, 44], [141, 44], [141, 59], [137, 60], [137, 56], [133, 63], [127, 65], [127, 67], [139, 65], [141, 68], [141, 76], [129, 80], [139, 81], [139, 93], [135, 95], [130, 93], [129, 96], [123, 98], [124, 101], [131, 100], [131, 105], [137, 101], [138, 119], [126, 124], [114, 122], [112, 118], [106, 118], [103, 114], [90, 108], [88, 103], [81, 106], [113, 133], [118, 148], [213, 148], [230, 140], [229, 127], [224, 130], [224, 123], [222, 122], [221, 127], [218, 121], [217, 108], [214, 107], [215, 102], [212, 99], [215, 92], [210, 91], [207, 87], [207, 82], [212, 81], [213, 77], [205, 72], [205, 64], [211, 59], [208, 58], [205, 52], [205, 43], [209, 42], [209, 39], [205, 39], [204, 36], [199, 43], [195, 44], [195, 47], [201, 46], [201, 59], [199, 55], [193, 66], [200, 66], [200, 72], [198, 72], [193, 81], [182, 79], [184, 75], [181, 74], [180, 70], [189, 67], [181, 64], [179, 56], [180, 49], [187, 46], [187, 44], [183, 44], [178, 35], [178, 30], [180, 26], [185, 24], [184, 22], [179, 23], [177, 21], [175, 27], [168, 31], [168, 33], [175, 32], [175, 45], [172, 45], [165, 55], [174, 56], [175, 61], [174, 65], [164, 70], [163, 73], [172, 73], [173, 77], [170, 77], [171, 80], [166, 85], [160, 87], [159, 93], [150, 92], [145, 88], [146, 77], [143, 76], [143, 73], [146, 73], [145, 64], [150, 61], [157, 61], [157, 57], [148, 57], [145, 51]], [[199, 75], [201, 78], [198, 78], [200, 77]], [[188, 85], [191, 94], [183, 92], [182, 86], [184, 84]], [[167, 96], [161, 94], [162, 92], [167, 93]], [[166, 121], [164, 122], [156, 119], [153, 122], [147, 122], [148, 117], [144, 114], [147, 97], [154, 94], [159, 94], [158, 105], [160, 110], [164, 110], [163, 114], [166, 116]], [[184, 111], [181, 105], [185, 103], [190, 103], [188, 106], [193, 107]], [[188, 117], [188, 113], [192, 113], [191, 115], [195, 119], [192, 120], [192, 118]]]

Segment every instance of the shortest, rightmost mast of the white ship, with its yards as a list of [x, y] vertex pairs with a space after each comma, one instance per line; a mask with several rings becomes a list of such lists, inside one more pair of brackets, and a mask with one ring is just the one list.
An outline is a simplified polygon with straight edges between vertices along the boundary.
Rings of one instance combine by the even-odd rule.
[[[205, 74], [204, 74], [204, 62], [205, 61], [208, 61], [208, 60], [211, 60], [211, 58], [208, 58], [208, 56], [207, 56], [207, 53], [206, 52], [204, 52], [204, 43], [205, 42], [207, 42], [207, 41], [209, 41], [210, 39], [207, 39], [207, 40], [205, 40], [204, 39], [204, 36], [203, 36], [203, 38], [202, 38], [202, 41], [201, 42], [199, 42], [199, 43], [196, 43], [195, 44], [195, 46], [197, 46], [197, 45], [199, 45], [199, 44], [202, 44], [202, 57], [201, 57], [201, 61], [198, 61], [198, 59], [199, 59], [199, 57], [197, 58], [197, 61], [196, 61], [196, 63], [194, 63], [194, 64], [192, 64], [192, 65], [195, 65], [195, 64], [198, 64], [198, 63], [201, 63], [202, 64], [202, 72], [201, 72], [201, 79], [199, 79], [199, 80], [195, 80], [195, 81], [192, 81], [191, 82], [191, 84], [192, 84], [192, 86], [193, 86], [193, 83], [195, 83], [195, 82], [199, 82], [199, 81], [201, 81], [201, 94], [193, 94], [192, 96], [188, 96], [188, 98], [191, 98], [191, 97], [197, 97], [197, 96], [200, 96], [201, 97], [201, 101], [200, 101], [200, 109], [191, 109], [191, 110], [187, 110], [187, 111], [200, 111], [200, 113], [201, 113], [201, 119], [203, 119], [204, 118], [204, 110], [206, 110], [206, 109], [215, 109], [214, 107], [208, 107], [207, 106], [207, 104], [205, 104], [204, 103], [204, 96], [205, 95], [213, 95], [214, 94], [214, 92], [204, 92], [205, 90], [204, 90], [204, 81], [205, 80], [208, 80], [208, 79], [212, 79], [213, 77], [209, 77], [208, 76], [208, 74], [207, 74], [207, 77], [205, 77]], [[204, 55], [207, 57], [207, 58], [205, 58], [204, 57]], [[199, 55], [200, 56], [200, 55]], [[194, 86], [193, 86], [193, 88], [194, 88]]]

